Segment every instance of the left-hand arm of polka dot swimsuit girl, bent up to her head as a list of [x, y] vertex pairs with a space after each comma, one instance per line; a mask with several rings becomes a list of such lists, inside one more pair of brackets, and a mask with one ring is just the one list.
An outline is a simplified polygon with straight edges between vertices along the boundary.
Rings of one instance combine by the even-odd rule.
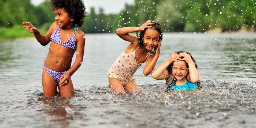
[[153, 24], [152, 20], [146, 21], [144, 24], [142, 24], [140, 27], [124, 27], [124, 28], [118, 28], [116, 29], [116, 34], [122, 38], [123, 40], [126, 40], [128, 42], [134, 43], [135, 40], [138, 40], [136, 36], [132, 36], [129, 33], [132, 32], [138, 32], [142, 31], [145, 28], [151, 28], [150, 25]]

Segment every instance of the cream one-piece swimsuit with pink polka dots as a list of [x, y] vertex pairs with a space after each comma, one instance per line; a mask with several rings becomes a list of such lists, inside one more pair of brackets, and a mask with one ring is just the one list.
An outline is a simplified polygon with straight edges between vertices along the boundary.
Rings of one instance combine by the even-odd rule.
[[[138, 48], [136, 50], [138, 50]], [[125, 85], [129, 80], [135, 80], [134, 73], [142, 64], [137, 64], [136, 62], [136, 50], [128, 53], [122, 52], [108, 70], [108, 76], [113, 79], [118, 78], [123, 85]]]

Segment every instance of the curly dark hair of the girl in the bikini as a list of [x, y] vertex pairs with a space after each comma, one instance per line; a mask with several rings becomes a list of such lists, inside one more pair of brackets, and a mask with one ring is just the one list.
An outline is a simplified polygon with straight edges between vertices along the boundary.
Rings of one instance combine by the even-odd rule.
[[74, 24], [81, 27], [84, 24], [86, 16], [83, 0], [51, 0], [50, 10], [54, 11], [59, 8], [64, 8], [68, 15], [74, 19]]

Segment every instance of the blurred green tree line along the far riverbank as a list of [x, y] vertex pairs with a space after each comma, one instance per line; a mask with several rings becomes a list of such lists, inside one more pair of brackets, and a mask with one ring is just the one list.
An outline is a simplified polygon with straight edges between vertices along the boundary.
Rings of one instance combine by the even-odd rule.
[[[48, 4], [48, 0], [39, 6], [30, 0], [0, 0], [0, 27], [29, 21], [47, 30], [55, 15]], [[119, 27], [140, 26], [148, 19], [160, 22], [164, 32], [249, 29], [256, 22], [255, 0], [135, 0], [135, 4], [125, 3], [118, 14], [108, 14], [103, 8], [99, 13], [94, 8], [86, 10], [90, 13], [80, 28], [85, 33], [115, 32]]]

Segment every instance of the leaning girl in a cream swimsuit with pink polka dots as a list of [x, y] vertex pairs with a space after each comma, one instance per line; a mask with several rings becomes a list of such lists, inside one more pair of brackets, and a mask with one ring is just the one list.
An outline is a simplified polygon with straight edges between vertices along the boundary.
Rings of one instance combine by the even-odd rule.
[[[129, 34], [132, 32], [137, 32], [136, 36]], [[116, 34], [130, 44], [108, 70], [109, 86], [113, 92], [137, 92], [133, 75], [144, 62], [144, 75], [154, 70], [160, 54], [162, 28], [159, 23], [148, 20], [140, 27], [118, 28]]]

